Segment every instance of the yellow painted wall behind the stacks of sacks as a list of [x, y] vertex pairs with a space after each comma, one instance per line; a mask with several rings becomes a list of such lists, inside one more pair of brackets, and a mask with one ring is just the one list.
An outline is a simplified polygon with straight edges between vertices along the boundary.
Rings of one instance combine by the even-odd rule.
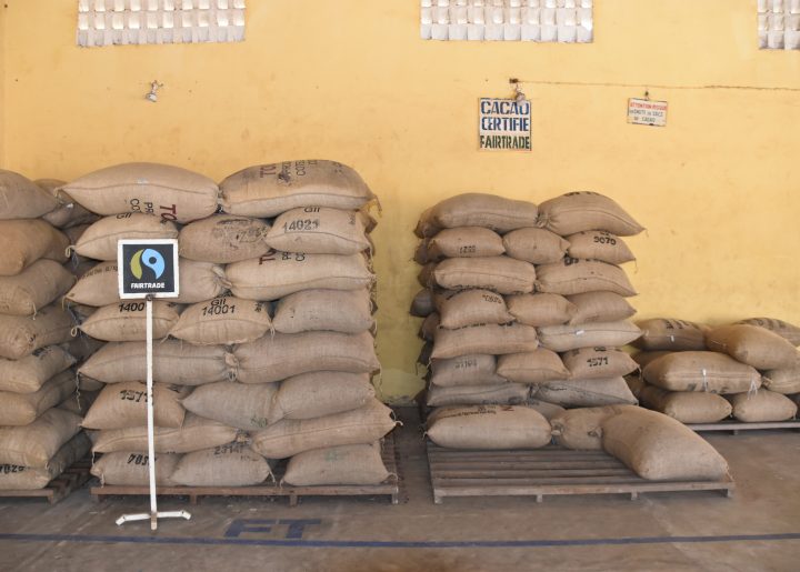
[[[458, 192], [607, 193], [649, 228], [630, 240], [640, 317], [800, 323], [800, 92], [769, 89], [800, 89], [800, 52], [757, 49], [754, 0], [597, 0], [582, 46], [421, 41], [417, 0], [250, 0], [243, 43], [102, 49], [73, 46], [76, 0], [6, 3], [7, 168], [70, 179], [152, 160], [221, 179], [333, 158], [362, 173], [384, 208], [388, 397], [421, 387], [411, 230]], [[651, 88], [670, 104], [654, 129], [626, 122], [643, 88], [527, 84], [533, 152], [478, 152], [477, 100], [509, 94], [511, 77], [764, 89]]]

